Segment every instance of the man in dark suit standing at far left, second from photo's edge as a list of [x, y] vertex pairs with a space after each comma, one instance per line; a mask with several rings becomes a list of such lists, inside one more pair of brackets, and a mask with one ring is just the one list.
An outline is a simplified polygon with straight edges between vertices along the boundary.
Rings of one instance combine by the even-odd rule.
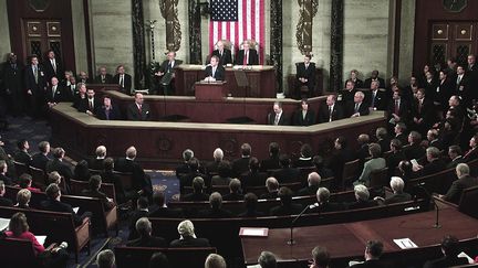
[[27, 88], [28, 106], [30, 116], [41, 117], [44, 115], [46, 89], [46, 77], [43, 66], [39, 64], [37, 55], [30, 57], [30, 65], [25, 67], [24, 86]]

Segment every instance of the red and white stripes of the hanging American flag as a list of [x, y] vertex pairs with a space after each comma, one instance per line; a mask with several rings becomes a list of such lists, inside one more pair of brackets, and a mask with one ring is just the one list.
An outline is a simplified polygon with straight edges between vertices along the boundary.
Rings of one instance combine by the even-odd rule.
[[232, 54], [245, 40], [254, 40], [259, 63], [264, 58], [264, 0], [238, 0], [238, 21], [209, 21], [209, 52], [219, 40], [232, 43]]

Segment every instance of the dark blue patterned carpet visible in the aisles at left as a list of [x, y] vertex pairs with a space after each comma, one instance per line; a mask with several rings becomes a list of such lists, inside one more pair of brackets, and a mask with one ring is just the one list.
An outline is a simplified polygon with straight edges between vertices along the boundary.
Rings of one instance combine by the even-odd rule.
[[[51, 128], [45, 120], [32, 120], [30, 117], [9, 117], [8, 130], [1, 130], [1, 140], [6, 143], [4, 149], [12, 154], [17, 151], [17, 142], [20, 139], [27, 139], [30, 144], [30, 154], [38, 152], [38, 144], [43, 140], [51, 139]], [[76, 161], [79, 159], [75, 159]], [[174, 171], [146, 171], [152, 178], [153, 187], [155, 191], [164, 191], [167, 200], [179, 199], [179, 181]], [[104, 248], [113, 249], [116, 245], [125, 243], [128, 235], [128, 221], [119, 222], [119, 233], [115, 236], [114, 232], [110, 232], [110, 237], [94, 237], [92, 239], [91, 255], [86, 250], [80, 254], [80, 261], [75, 264], [74, 255], [70, 256], [67, 267], [96, 267], [95, 258], [100, 250]]]

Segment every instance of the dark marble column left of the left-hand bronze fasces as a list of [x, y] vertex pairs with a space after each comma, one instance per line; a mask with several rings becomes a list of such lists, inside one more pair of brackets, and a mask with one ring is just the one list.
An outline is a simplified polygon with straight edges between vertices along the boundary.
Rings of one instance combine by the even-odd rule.
[[143, 0], [132, 0], [134, 88], [145, 88], [146, 49]]

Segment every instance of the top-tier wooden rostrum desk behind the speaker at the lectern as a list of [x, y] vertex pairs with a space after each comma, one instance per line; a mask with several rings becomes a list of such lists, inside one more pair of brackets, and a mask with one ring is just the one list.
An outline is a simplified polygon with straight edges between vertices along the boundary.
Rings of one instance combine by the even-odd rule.
[[[276, 74], [273, 66], [248, 66], [249, 69], [226, 68], [226, 81], [233, 97], [274, 98]], [[205, 66], [181, 64], [175, 71], [176, 95], [194, 96], [194, 85], [205, 78]], [[248, 88], [241, 88], [236, 82], [235, 72], [245, 72], [249, 83]]]

